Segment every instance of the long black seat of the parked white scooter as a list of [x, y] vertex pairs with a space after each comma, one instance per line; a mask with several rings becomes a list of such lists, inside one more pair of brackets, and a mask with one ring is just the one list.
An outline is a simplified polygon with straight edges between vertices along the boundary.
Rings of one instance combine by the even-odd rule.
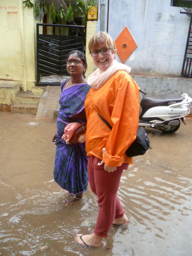
[[183, 97], [179, 94], [162, 94], [144, 97], [140, 105], [142, 108], [151, 108], [157, 106], [169, 106], [171, 104], [181, 102]]

